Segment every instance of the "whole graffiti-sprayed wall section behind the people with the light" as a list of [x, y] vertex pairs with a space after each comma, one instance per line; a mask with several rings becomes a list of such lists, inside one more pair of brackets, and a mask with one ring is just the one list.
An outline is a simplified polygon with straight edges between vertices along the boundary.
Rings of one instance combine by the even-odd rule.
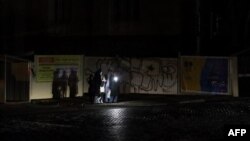
[[[122, 93], [177, 94], [177, 59], [85, 58], [85, 80], [98, 68], [120, 74]], [[88, 85], [84, 85], [87, 92]]]

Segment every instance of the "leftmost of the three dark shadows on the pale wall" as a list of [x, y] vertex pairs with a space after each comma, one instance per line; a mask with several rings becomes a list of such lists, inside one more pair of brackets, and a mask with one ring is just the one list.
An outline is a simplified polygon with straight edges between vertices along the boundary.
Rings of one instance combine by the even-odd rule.
[[60, 99], [60, 78], [59, 78], [59, 69], [56, 69], [53, 73], [52, 81], [52, 95], [53, 99]]

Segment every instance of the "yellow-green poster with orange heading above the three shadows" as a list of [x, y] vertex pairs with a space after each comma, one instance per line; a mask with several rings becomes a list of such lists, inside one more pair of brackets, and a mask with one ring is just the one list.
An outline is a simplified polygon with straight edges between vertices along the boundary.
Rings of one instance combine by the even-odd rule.
[[51, 82], [55, 73], [60, 77], [76, 72], [81, 78], [81, 62], [80, 55], [37, 55], [35, 57], [36, 81]]

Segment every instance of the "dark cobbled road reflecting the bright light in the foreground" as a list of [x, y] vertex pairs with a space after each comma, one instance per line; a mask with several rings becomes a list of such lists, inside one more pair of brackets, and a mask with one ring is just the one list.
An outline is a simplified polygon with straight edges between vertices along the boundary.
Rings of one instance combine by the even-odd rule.
[[0, 105], [1, 141], [193, 141], [250, 125], [249, 100]]

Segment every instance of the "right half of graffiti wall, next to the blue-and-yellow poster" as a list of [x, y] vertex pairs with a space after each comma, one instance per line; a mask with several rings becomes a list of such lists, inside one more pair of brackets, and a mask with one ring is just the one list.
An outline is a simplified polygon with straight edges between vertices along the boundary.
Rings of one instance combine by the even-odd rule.
[[132, 59], [130, 92], [177, 94], [177, 60]]

